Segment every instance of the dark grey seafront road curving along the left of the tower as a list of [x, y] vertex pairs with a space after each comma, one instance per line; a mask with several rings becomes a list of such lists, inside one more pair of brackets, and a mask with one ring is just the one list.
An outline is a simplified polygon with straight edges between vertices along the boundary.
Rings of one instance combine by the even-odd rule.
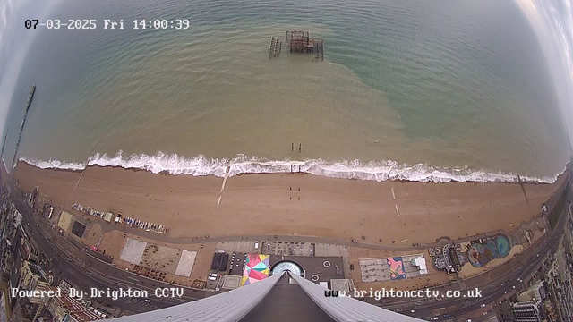
[[[56, 233], [43, 217], [34, 216], [32, 208], [23, 201], [13, 198], [13, 202], [23, 216], [22, 225], [25, 226], [30, 238], [41, 248], [41, 252], [44, 253], [46, 258], [50, 260], [50, 269], [54, 274], [55, 281], [65, 279], [71, 284], [79, 286], [84, 292], [89, 292], [92, 287], [104, 291], [107, 288], [112, 291], [119, 288], [148, 291], [150, 296], [147, 299], [120, 298], [114, 301], [108, 298], [101, 298], [101, 301], [107, 304], [135, 313], [167, 308], [187, 301], [198, 300], [204, 298], [208, 293], [180, 285], [160, 282], [109, 265], [65, 241], [64, 237]], [[182, 287], [184, 295], [181, 299], [157, 298], [154, 292], [160, 287]]]

